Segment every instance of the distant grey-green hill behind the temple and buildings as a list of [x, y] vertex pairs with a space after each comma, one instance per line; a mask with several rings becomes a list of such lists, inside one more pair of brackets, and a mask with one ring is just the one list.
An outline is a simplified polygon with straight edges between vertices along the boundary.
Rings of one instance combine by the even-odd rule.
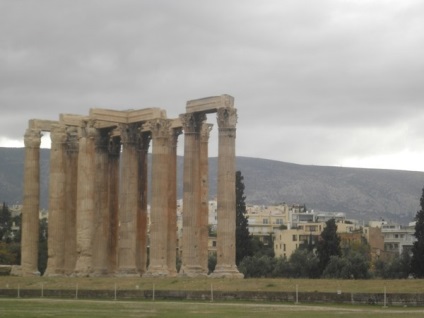
[[[49, 149], [41, 149], [41, 206], [48, 206]], [[217, 158], [209, 159], [210, 196], [216, 196]], [[0, 148], [0, 200], [22, 202], [23, 148]], [[182, 196], [183, 159], [178, 158], [178, 194]], [[359, 220], [410, 222], [419, 209], [424, 172], [306, 166], [237, 157], [246, 202], [306, 204], [316, 211], [345, 212]]]

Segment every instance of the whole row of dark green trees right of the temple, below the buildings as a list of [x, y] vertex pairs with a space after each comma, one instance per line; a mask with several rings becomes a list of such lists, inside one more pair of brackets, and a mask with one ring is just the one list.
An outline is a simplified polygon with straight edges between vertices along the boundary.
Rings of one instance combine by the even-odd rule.
[[[236, 264], [245, 277], [302, 277], [366, 279], [424, 278], [424, 189], [421, 210], [416, 215], [412, 250], [372, 261], [370, 246], [364, 239], [341, 248], [334, 219], [326, 223], [316, 243], [301, 245], [288, 259], [275, 258], [273, 242], [258, 243], [249, 235], [243, 176], [236, 173]], [[260, 246], [262, 244], [263, 246]]]

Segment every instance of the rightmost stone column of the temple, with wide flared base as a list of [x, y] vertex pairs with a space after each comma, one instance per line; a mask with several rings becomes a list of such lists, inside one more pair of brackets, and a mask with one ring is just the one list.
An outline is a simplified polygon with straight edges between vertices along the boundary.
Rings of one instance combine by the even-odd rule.
[[237, 110], [220, 108], [218, 117], [217, 264], [212, 277], [242, 278], [236, 266], [235, 138]]

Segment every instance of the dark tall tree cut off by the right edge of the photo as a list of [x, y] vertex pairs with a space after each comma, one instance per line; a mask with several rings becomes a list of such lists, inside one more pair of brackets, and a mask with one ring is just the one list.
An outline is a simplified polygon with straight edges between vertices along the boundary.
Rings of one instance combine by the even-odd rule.
[[424, 277], [424, 188], [420, 199], [421, 210], [415, 216], [415, 233], [417, 239], [412, 246], [411, 273], [416, 278]]

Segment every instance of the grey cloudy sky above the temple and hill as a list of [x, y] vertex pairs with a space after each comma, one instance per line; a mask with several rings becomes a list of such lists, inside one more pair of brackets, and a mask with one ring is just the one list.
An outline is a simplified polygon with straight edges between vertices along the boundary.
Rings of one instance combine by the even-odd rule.
[[423, 56], [421, 0], [0, 0], [0, 146], [229, 94], [239, 156], [424, 171]]

